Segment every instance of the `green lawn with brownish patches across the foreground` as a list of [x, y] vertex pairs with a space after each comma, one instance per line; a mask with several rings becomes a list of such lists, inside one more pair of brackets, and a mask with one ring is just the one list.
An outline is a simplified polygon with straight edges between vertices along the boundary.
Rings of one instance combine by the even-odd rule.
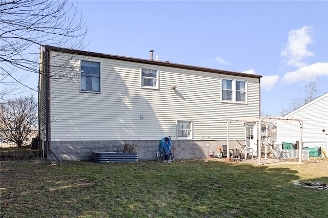
[[328, 183], [327, 160], [2, 160], [1, 217], [327, 217], [328, 190], [293, 184]]

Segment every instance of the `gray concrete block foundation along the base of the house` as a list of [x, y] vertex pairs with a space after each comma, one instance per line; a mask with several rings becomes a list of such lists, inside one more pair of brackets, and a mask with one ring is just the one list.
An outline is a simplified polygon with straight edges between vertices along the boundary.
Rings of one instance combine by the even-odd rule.
[[[90, 160], [92, 151], [121, 151], [125, 144], [135, 144], [139, 161], [157, 160], [160, 140], [145, 141], [52, 141], [51, 151], [61, 160]], [[208, 144], [210, 146], [208, 146]], [[217, 147], [227, 144], [227, 140], [194, 141], [171, 140], [171, 151], [174, 160], [208, 158], [209, 152]], [[240, 141], [230, 141], [230, 148], [240, 147]], [[47, 149], [47, 159], [56, 160], [55, 156]]]

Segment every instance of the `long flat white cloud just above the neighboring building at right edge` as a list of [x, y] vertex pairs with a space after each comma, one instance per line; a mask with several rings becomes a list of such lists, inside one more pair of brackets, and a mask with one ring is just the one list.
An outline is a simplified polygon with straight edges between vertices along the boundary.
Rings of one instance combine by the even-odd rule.
[[314, 63], [293, 72], [286, 72], [282, 81], [285, 83], [293, 83], [301, 80], [310, 80], [312, 75], [328, 75], [328, 62]]

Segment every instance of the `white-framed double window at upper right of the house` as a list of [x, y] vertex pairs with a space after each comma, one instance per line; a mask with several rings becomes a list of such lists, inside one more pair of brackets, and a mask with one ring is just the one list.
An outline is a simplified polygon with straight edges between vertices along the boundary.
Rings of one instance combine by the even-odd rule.
[[223, 102], [247, 103], [247, 81], [237, 79], [222, 79], [221, 81]]

